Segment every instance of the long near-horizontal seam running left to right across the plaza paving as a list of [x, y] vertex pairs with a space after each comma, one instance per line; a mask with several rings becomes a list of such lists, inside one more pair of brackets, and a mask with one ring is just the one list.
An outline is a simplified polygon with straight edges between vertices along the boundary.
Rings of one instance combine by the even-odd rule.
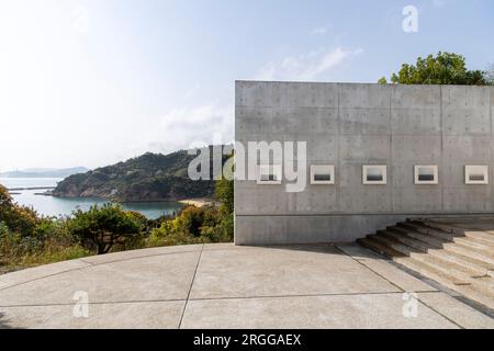
[[[416, 292], [417, 294], [439, 294], [440, 292]], [[398, 295], [402, 292], [375, 292], [375, 293], [335, 293], [335, 294], [313, 294], [313, 295], [259, 295], [259, 296], [225, 296], [225, 297], [200, 297], [190, 298], [189, 302], [209, 302], [209, 301], [233, 301], [233, 299], [274, 299], [274, 298], [303, 298], [303, 297], [341, 297], [341, 296], [373, 296], [373, 295]], [[119, 304], [153, 304], [153, 303], [173, 303], [187, 302], [183, 298], [170, 299], [139, 299], [139, 301], [120, 301], [120, 302], [96, 302], [88, 305], [119, 305]], [[56, 307], [56, 306], [74, 306], [74, 303], [65, 304], [33, 304], [33, 305], [11, 305], [0, 306], [0, 308], [21, 308], [21, 307]]]

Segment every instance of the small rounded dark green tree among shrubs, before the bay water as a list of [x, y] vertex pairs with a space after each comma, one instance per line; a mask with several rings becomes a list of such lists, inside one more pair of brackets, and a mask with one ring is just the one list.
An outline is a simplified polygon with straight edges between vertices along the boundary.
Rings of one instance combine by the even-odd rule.
[[74, 212], [68, 226], [82, 245], [97, 249], [98, 254], [110, 252], [115, 244], [124, 244], [125, 239], [138, 236], [143, 229], [134, 214], [113, 204]]

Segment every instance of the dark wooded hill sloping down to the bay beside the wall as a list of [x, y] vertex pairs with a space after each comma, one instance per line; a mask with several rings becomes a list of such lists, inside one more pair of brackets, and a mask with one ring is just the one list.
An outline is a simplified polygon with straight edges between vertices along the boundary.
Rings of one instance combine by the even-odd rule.
[[211, 199], [214, 181], [192, 181], [188, 168], [195, 156], [145, 154], [113, 166], [68, 177], [53, 192], [59, 197], [102, 197], [117, 202]]

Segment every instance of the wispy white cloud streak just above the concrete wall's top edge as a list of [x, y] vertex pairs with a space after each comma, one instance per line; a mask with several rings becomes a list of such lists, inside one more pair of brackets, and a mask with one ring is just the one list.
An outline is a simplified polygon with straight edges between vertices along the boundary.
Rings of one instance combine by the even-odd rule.
[[332, 50], [321, 49], [301, 56], [291, 56], [279, 63], [269, 63], [258, 71], [255, 79], [314, 80], [361, 53], [363, 53], [361, 48], [347, 50], [337, 47]]

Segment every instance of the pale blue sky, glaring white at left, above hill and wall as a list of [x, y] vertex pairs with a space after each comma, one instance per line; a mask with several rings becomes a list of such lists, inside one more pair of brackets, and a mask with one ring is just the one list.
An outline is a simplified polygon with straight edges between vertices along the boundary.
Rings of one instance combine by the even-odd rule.
[[492, 0], [0, 0], [0, 171], [228, 143], [236, 79], [375, 82], [439, 50], [484, 69], [493, 39]]

